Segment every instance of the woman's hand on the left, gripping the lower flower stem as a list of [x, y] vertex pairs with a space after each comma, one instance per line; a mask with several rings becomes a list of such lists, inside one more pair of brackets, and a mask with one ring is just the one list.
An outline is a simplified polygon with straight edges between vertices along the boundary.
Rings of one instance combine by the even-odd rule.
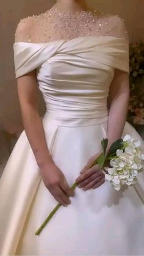
[[66, 207], [69, 205], [71, 203], [69, 197], [74, 196], [74, 191], [68, 185], [67, 180], [59, 167], [51, 161], [51, 163], [47, 163], [43, 167], [40, 167], [40, 171], [43, 182], [49, 192], [51, 192], [52, 196], [54, 196], [54, 198], [63, 206]]

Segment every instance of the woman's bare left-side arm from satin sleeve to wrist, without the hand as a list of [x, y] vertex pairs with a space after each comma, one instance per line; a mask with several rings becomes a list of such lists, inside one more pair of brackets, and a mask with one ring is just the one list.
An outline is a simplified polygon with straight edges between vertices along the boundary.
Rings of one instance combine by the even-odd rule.
[[38, 113], [38, 87], [35, 70], [17, 78], [18, 97], [24, 130], [31, 144], [38, 166], [52, 162], [45, 133]]

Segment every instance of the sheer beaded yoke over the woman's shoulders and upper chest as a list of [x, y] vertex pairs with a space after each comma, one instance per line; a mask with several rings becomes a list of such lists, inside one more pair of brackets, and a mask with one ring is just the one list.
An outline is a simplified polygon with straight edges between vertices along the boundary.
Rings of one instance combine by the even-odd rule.
[[20, 20], [15, 42], [46, 43], [92, 35], [113, 36], [129, 41], [123, 18], [96, 10], [78, 12], [50, 9]]

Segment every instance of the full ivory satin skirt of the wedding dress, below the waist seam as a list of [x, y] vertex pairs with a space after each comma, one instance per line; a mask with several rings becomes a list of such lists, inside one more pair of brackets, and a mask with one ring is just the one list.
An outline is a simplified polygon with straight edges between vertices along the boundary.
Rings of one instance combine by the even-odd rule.
[[[107, 120], [43, 117], [54, 163], [73, 185], [88, 159], [101, 150]], [[139, 137], [126, 122], [123, 136]], [[143, 141], [142, 141], [143, 143]], [[115, 191], [109, 181], [96, 189], [75, 189], [40, 235], [35, 232], [57, 205], [45, 187], [25, 131], [18, 138], [0, 180], [1, 255], [144, 255], [144, 175], [134, 187]]]

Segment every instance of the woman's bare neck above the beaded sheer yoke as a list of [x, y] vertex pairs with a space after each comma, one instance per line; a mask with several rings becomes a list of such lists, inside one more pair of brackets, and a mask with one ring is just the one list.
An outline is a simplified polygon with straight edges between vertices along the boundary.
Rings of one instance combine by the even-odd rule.
[[85, 0], [57, 0], [52, 8], [60, 10], [88, 10]]

